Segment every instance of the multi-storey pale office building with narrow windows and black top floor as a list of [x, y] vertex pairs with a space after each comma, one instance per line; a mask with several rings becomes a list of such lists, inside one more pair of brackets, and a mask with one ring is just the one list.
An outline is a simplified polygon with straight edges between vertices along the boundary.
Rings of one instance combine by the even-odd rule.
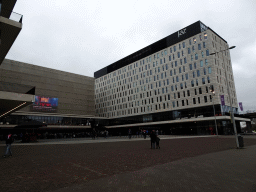
[[216, 132], [216, 120], [220, 134], [232, 132], [227, 113], [237, 113], [238, 104], [229, 45], [201, 21], [94, 77], [96, 114], [109, 118], [107, 128], [209, 134]]

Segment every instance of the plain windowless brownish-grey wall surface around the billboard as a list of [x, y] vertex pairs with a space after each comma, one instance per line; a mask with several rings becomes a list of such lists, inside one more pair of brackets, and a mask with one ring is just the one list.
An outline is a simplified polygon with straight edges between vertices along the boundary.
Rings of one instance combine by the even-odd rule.
[[[95, 115], [92, 77], [5, 59], [0, 81], [35, 86], [35, 95], [58, 98], [57, 113]], [[30, 107], [22, 111], [29, 112]]]

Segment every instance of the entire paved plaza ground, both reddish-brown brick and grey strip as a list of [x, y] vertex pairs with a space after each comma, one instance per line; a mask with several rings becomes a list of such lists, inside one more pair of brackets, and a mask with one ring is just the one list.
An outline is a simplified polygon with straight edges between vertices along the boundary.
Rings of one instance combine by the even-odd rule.
[[253, 137], [239, 150], [234, 137], [163, 138], [160, 150], [149, 139], [60, 141], [14, 143], [0, 159], [0, 191], [256, 190]]

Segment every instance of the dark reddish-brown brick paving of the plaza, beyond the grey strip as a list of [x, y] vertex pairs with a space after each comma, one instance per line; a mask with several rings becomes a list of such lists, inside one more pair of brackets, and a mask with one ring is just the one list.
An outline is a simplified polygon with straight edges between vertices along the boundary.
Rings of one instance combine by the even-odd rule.
[[[177, 160], [232, 150], [236, 146], [234, 138], [186, 138], [161, 140], [161, 149], [151, 150], [148, 139], [126, 140], [66, 145], [14, 145], [13, 157], [0, 158], [0, 191], [61, 191], [110, 176], [110, 182], [114, 183], [117, 181], [114, 178], [124, 173], [136, 173]], [[244, 143], [245, 146], [256, 145], [256, 139], [244, 138]], [[0, 149], [4, 152], [5, 147], [0, 146]], [[146, 176], [137, 173], [135, 183], [138, 178]], [[194, 177], [193, 173], [189, 174], [191, 178]], [[141, 183], [138, 182], [138, 185]], [[155, 188], [154, 191], [159, 190]]]

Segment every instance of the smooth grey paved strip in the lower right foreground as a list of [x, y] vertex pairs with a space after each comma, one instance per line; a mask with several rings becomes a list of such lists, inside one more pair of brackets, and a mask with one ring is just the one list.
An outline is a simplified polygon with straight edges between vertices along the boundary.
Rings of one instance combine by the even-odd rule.
[[254, 192], [256, 145], [185, 158], [51, 192]]

